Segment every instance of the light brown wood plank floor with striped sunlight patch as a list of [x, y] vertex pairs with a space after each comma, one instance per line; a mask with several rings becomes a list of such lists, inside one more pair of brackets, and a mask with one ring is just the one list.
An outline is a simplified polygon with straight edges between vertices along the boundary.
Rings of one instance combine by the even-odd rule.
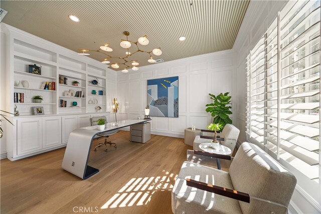
[[61, 168], [65, 148], [1, 160], [1, 213], [172, 213], [174, 178], [192, 147], [156, 135], [133, 143], [124, 131], [109, 139], [117, 148], [91, 152], [88, 165], [100, 172], [87, 180]]

